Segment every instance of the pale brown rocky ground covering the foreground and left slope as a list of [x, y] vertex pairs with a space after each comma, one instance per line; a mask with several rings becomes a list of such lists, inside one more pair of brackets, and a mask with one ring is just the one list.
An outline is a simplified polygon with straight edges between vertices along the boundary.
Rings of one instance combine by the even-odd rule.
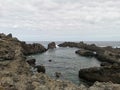
[[[0, 90], [119, 90], [119, 84], [96, 82], [91, 87], [76, 86], [69, 81], [54, 80], [44, 73], [31, 72], [30, 65], [35, 60], [27, 61], [24, 48], [17, 38], [0, 34], [1, 51], [12, 51], [14, 55], [0, 61]], [[7, 47], [7, 48], [5, 48]], [[4, 50], [5, 49], [5, 50]], [[7, 55], [7, 53], [5, 53]], [[2, 55], [1, 55], [2, 56]], [[4, 56], [4, 55], [3, 55]], [[9, 56], [9, 55], [8, 55]], [[3, 58], [3, 57], [2, 57]], [[29, 62], [29, 64], [28, 64]], [[118, 70], [118, 69], [116, 69]], [[118, 70], [119, 71], [119, 70]], [[116, 71], [117, 72], [117, 71]]]

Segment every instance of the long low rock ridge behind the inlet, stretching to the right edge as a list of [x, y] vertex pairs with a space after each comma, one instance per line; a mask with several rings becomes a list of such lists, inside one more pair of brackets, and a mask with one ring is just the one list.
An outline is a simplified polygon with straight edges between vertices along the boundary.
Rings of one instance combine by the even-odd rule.
[[[64, 42], [59, 44], [60, 47], [76, 47], [80, 49], [84, 49], [84, 56], [94, 56], [98, 60], [102, 62], [109, 62], [109, 63], [120, 63], [120, 49], [119, 48], [112, 48], [110, 46], [107, 47], [98, 47], [95, 44], [85, 44], [83, 42], [75, 43], [75, 42]], [[89, 52], [88, 52], [89, 51]], [[94, 54], [92, 54], [92, 52]], [[83, 55], [81, 50], [76, 51], [77, 54]], [[88, 55], [89, 53], [89, 55]]]

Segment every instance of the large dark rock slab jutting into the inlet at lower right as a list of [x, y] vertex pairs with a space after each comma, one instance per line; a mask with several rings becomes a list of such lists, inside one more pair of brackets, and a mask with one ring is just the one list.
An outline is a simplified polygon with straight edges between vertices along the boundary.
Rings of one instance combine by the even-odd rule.
[[120, 83], [120, 66], [116, 64], [111, 66], [81, 69], [79, 71], [79, 77], [91, 82], [112, 81], [113, 83]]

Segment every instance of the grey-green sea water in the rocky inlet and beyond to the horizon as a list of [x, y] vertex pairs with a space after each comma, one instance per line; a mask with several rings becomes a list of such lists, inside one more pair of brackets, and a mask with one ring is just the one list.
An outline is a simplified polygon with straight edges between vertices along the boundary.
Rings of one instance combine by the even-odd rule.
[[[40, 41], [40, 42], [27, 42], [27, 43], [40, 43], [47, 48], [48, 41]], [[56, 44], [60, 44], [62, 42], [56, 42]], [[97, 46], [112, 46], [112, 47], [120, 47], [120, 42], [112, 42], [112, 41], [101, 41], [101, 42], [87, 42], [87, 44], [96, 44]], [[69, 80], [75, 84], [81, 84], [82, 81], [78, 77], [78, 72], [80, 69], [89, 68], [89, 67], [99, 67], [100, 61], [96, 58], [87, 58], [82, 57], [75, 54], [75, 51], [78, 48], [63, 48], [58, 47], [53, 50], [48, 50], [42, 54], [31, 55], [28, 58], [35, 58], [37, 60], [36, 64], [43, 64], [46, 68], [46, 74], [55, 79], [55, 72], [60, 72], [62, 75], [60, 77], [61, 80]], [[52, 60], [49, 62], [48, 60]]]

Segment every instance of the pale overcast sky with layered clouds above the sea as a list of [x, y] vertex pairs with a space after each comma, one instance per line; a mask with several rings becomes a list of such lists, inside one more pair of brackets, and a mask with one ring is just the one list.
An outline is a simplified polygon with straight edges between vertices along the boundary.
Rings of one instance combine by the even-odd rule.
[[120, 0], [0, 0], [0, 32], [26, 41], [118, 41]]

